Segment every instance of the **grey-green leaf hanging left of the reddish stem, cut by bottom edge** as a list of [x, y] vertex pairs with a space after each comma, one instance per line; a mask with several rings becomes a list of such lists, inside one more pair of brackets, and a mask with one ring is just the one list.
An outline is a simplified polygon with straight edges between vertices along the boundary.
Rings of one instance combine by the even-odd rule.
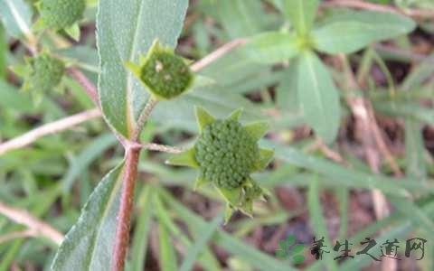
[[52, 262], [52, 270], [109, 270], [114, 246], [124, 163], [90, 195]]

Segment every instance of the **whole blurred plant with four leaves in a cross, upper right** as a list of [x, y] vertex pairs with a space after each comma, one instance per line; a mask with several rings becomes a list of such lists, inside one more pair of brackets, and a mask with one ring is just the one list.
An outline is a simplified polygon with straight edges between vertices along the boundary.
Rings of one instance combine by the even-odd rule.
[[[291, 23], [291, 28], [250, 37], [247, 53], [261, 63], [296, 59], [291, 64], [294, 68], [288, 68], [288, 79], [297, 84], [297, 93], [292, 94], [297, 95], [298, 107], [307, 124], [326, 143], [331, 143], [340, 126], [339, 94], [330, 72], [315, 51], [353, 53], [372, 42], [410, 33], [415, 23], [399, 14], [360, 11], [334, 14], [315, 27], [319, 0], [276, 0], [274, 3]], [[278, 93], [278, 97], [280, 95]]]

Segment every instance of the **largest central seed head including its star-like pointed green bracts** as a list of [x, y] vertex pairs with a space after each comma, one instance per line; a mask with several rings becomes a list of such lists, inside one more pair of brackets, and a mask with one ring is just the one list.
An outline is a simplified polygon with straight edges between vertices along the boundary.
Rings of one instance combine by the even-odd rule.
[[251, 215], [256, 199], [265, 191], [250, 178], [250, 173], [263, 170], [274, 152], [259, 148], [258, 141], [269, 125], [256, 122], [242, 126], [241, 110], [226, 119], [215, 119], [203, 108], [196, 108], [201, 135], [193, 148], [172, 157], [168, 163], [199, 169], [195, 187], [212, 183], [228, 202], [226, 220], [233, 210]]

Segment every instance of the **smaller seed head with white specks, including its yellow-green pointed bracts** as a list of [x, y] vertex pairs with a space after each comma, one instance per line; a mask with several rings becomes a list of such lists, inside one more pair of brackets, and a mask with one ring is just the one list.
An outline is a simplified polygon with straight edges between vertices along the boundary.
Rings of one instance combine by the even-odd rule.
[[189, 89], [193, 73], [183, 58], [175, 55], [170, 47], [156, 41], [141, 58], [139, 66], [127, 62], [132, 70], [156, 99], [175, 98]]

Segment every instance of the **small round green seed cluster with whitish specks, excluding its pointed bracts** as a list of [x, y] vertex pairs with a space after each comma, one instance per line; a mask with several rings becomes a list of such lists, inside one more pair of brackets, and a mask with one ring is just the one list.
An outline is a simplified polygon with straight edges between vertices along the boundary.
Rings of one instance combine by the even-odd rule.
[[175, 98], [190, 87], [193, 74], [174, 53], [156, 51], [142, 67], [140, 79], [159, 97]]

